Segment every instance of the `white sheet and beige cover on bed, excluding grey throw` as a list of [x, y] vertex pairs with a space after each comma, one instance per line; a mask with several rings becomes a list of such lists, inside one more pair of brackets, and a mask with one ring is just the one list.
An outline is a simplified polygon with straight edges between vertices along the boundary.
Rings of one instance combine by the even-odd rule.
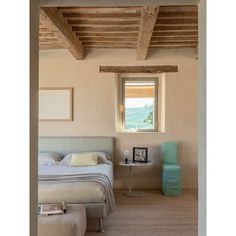
[[[106, 175], [113, 185], [112, 164], [98, 164], [87, 167], [70, 167], [67, 165], [39, 166], [39, 176], [95, 174]], [[39, 182], [38, 202], [61, 202], [69, 203], [99, 203], [105, 201], [104, 190], [95, 182], [72, 182], [72, 183], [41, 183]]]

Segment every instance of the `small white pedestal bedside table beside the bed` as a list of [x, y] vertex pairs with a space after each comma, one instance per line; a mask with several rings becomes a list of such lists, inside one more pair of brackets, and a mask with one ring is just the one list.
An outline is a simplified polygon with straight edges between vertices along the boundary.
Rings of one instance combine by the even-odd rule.
[[124, 161], [120, 161], [119, 165], [120, 166], [125, 166], [129, 167], [129, 189], [128, 192], [126, 193], [126, 196], [128, 197], [141, 197], [144, 196], [144, 192], [137, 192], [137, 191], [132, 191], [132, 167], [145, 167], [145, 166], [150, 166], [152, 165], [152, 161], [148, 162], [128, 162], [125, 163]]

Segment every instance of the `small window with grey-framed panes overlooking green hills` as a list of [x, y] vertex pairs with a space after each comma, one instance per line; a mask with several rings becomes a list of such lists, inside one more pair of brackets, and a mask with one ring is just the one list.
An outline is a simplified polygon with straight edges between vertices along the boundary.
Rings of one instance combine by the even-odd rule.
[[122, 130], [158, 131], [158, 79], [123, 78], [121, 90]]

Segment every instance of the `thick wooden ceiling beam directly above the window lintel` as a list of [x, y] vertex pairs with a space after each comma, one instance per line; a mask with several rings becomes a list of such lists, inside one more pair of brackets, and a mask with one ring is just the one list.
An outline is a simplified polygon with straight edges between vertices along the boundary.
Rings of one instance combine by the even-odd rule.
[[143, 7], [140, 19], [137, 59], [145, 60], [160, 7]]

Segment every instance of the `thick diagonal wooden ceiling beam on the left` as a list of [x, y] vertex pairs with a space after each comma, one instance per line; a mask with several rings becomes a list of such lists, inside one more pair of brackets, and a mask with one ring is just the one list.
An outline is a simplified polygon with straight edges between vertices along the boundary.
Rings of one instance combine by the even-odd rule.
[[43, 25], [53, 32], [67, 48], [70, 53], [77, 59], [84, 59], [84, 47], [79, 38], [72, 32], [71, 27], [63, 18], [61, 12], [55, 7], [41, 8], [43, 15]]

